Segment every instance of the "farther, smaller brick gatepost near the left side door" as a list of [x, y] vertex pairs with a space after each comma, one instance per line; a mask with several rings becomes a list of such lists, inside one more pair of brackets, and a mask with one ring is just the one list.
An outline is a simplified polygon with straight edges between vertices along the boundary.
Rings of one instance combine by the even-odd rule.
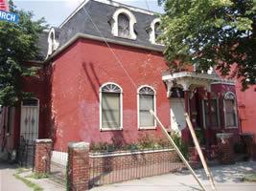
[[35, 173], [50, 173], [52, 139], [35, 140]]

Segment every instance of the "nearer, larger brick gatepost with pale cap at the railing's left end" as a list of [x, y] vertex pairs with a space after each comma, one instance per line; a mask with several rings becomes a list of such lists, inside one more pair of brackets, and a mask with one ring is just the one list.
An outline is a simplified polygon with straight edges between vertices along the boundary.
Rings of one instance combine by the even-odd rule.
[[69, 143], [67, 163], [67, 190], [89, 189], [89, 143]]

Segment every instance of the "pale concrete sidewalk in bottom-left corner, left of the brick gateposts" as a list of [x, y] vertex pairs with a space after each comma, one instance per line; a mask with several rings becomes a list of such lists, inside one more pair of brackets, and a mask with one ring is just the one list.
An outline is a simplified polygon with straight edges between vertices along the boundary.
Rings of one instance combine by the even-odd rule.
[[0, 191], [33, 191], [21, 180], [16, 180], [14, 173], [14, 165], [0, 160]]

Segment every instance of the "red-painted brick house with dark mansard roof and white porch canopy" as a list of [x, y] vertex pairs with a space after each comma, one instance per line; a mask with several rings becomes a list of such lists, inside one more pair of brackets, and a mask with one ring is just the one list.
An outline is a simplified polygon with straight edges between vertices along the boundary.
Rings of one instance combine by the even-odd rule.
[[156, 41], [158, 25], [152, 11], [108, 0], [83, 2], [59, 28], [42, 34], [40, 78], [24, 81], [24, 90], [35, 92], [35, 98], [3, 109], [1, 147], [16, 148], [35, 138], [53, 138], [55, 149], [66, 149], [70, 141], [130, 143], [143, 133], [157, 137], [161, 131], [150, 108], [188, 143], [184, 109], [207, 148], [216, 144], [217, 133], [238, 139], [241, 103], [235, 83], [192, 70], [170, 74]]

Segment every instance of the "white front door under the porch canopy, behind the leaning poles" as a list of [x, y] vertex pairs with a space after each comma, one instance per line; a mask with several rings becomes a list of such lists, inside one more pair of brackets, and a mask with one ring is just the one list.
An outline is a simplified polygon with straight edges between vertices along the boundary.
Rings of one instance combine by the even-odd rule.
[[186, 127], [184, 117], [184, 98], [171, 97], [171, 127], [172, 130], [181, 133]]

